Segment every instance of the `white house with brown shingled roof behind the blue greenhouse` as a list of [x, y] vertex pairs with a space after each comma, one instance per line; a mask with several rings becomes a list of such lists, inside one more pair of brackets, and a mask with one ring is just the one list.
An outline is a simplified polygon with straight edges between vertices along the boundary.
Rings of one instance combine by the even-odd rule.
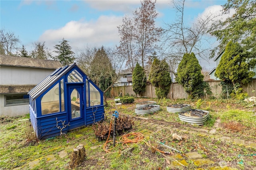
[[59, 61], [0, 55], [0, 115], [29, 113], [28, 92], [59, 67]]

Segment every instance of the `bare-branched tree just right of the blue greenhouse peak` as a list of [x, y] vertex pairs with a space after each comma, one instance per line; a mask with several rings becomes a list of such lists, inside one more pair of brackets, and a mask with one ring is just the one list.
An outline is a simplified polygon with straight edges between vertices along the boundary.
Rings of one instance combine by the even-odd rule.
[[118, 81], [125, 59], [119, 57], [111, 48], [91, 49], [87, 47], [84, 51], [80, 51], [76, 61], [97, 86], [101, 86], [101, 82], [105, 83], [106, 80], [109, 80], [108, 86], [102, 87], [104, 89], [101, 88], [104, 91], [104, 103], [107, 105], [105, 94]]

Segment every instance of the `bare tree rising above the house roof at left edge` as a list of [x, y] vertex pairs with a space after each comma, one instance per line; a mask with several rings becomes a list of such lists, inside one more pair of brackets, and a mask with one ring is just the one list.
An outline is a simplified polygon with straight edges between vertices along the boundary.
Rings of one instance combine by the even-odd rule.
[[1, 49], [4, 49], [0, 51], [0, 54], [12, 55], [14, 50], [19, 49], [19, 43], [19, 37], [16, 37], [13, 32], [0, 29], [0, 44]]

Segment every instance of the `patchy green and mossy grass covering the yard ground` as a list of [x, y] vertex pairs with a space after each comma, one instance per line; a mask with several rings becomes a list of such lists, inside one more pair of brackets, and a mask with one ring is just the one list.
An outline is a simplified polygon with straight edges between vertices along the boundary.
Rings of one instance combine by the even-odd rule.
[[[135, 104], [147, 100], [156, 101], [160, 105], [160, 111], [144, 116], [136, 116], [134, 113]], [[108, 103], [109, 106], [105, 108], [105, 111], [107, 118], [110, 120], [112, 112], [116, 108], [114, 101], [109, 100]], [[203, 126], [184, 123], [179, 120], [176, 113], [166, 111], [166, 106], [176, 103], [190, 104], [193, 109], [208, 110], [210, 111], [210, 117]], [[210, 169], [219, 166], [218, 163], [221, 161], [225, 161], [233, 168], [252, 169], [256, 166], [255, 156], [238, 158], [238, 155], [256, 154], [256, 149], [218, 140], [218, 138], [225, 136], [256, 143], [256, 116], [252, 116], [254, 113], [252, 113], [250, 106], [251, 104], [236, 100], [198, 101], [136, 98], [133, 104], [123, 104], [118, 112], [136, 117], [134, 118], [134, 131], [141, 131], [145, 135], [145, 142], [132, 144], [129, 148], [123, 148], [121, 143], [118, 143], [114, 153], [104, 152], [102, 145], [105, 141], [98, 142], [91, 126], [70, 131], [61, 138], [37, 140], [31, 133], [29, 115], [0, 117], [0, 169], [21, 167], [26, 170], [29, 169], [28, 162], [34, 160], [39, 161], [38, 166], [33, 168], [34, 170], [67, 169], [70, 161], [68, 155], [80, 143], [84, 145], [87, 157], [86, 161], [76, 168], [77, 170]], [[214, 123], [218, 119], [220, 119], [220, 123], [216, 127]], [[159, 129], [159, 127], [161, 128]], [[202, 135], [202, 132], [210, 131], [213, 128], [216, 129], [214, 135]], [[184, 139], [182, 141], [172, 140], [170, 136], [172, 131], [184, 137]], [[146, 136], [146, 134], [149, 136]], [[178, 154], [172, 149], [158, 145], [157, 141], [164, 137], [167, 137], [164, 139], [166, 145], [180, 150], [182, 153]], [[146, 143], [150, 145], [146, 145]], [[170, 152], [171, 155], [163, 155], [158, 151], [152, 152], [154, 150], [152, 146]], [[60, 158], [59, 153], [63, 150], [68, 155]], [[197, 165], [194, 159], [184, 156], [187, 152], [197, 152], [202, 158], [209, 158], [214, 160], [215, 163], [210, 167], [208, 165]], [[51, 162], [50, 158], [46, 157], [49, 155], [53, 155], [56, 160]], [[241, 161], [241, 158], [244, 164], [237, 164]], [[173, 159], [183, 162], [186, 166], [179, 165]]]

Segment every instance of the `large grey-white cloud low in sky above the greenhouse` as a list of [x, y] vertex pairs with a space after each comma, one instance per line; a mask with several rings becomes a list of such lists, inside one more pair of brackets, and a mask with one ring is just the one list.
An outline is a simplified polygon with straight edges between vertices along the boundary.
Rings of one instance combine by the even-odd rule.
[[39, 38], [40, 42], [47, 42], [49, 49], [53, 49], [62, 38], [69, 41], [73, 51], [90, 47], [100, 47], [102, 45], [118, 45], [117, 26], [122, 24], [122, 17], [100, 16], [98, 20], [89, 22], [70, 21], [59, 29], [46, 30]]

